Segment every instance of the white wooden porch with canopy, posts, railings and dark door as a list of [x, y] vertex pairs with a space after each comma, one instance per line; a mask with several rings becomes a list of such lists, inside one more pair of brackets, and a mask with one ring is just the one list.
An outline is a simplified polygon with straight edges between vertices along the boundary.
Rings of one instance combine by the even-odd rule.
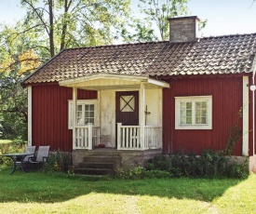
[[[162, 88], [168, 83], [147, 76], [91, 74], [60, 86], [73, 87], [69, 128], [74, 151], [100, 144], [117, 151], [162, 148]], [[98, 91], [98, 99], [77, 100], [78, 88]]]

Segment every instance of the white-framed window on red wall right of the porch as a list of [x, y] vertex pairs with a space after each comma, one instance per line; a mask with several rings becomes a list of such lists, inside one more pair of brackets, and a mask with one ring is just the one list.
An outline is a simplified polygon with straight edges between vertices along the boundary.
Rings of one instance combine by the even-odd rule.
[[175, 129], [211, 129], [212, 97], [176, 97]]

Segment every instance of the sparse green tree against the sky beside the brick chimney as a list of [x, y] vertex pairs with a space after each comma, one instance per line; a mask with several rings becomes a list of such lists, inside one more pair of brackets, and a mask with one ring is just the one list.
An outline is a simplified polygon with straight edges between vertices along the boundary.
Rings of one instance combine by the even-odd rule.
[[[186, 16], [188, 0], [139, 0], [140, 19], [133, 19], [124, 30], [125, 42], [151, 42], [168, 40], [168, 18]], [[199, 30], [207, 20], [199, 21]]]

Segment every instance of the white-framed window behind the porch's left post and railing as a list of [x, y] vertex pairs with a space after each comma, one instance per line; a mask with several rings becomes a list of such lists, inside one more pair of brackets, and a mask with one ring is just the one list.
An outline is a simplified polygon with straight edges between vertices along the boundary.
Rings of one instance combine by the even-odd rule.
[[[76, 126], [99, 125], [98, 100], [77, 100]], [[69, 100], [69, 129], [73, 128], [73, 100]]]

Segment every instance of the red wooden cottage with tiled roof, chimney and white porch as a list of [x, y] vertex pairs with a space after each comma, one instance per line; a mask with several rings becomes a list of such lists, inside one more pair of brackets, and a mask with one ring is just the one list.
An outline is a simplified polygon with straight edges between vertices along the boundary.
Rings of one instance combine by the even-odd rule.
[[[23, 82], [29, 143], [121, 154], [123, 165], [180, 150], [255, 154], [256, 34], [197, 35], [197, 17], [169, 19], [169, 41], [61, 51]], [[74, 108], [75, 106], [75, 108]], [[141, 158], [141, 159], [140, 159]]]

